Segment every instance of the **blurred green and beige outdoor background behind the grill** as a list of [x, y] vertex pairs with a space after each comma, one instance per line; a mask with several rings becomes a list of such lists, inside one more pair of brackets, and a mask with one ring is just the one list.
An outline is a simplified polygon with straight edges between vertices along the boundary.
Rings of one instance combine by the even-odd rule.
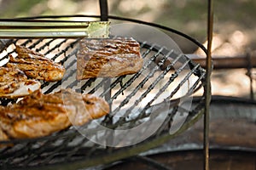
[[[256, 51], [256, 1], [213, 0], [213, 6], [212, 54], [231, 57]], [[207, 44], [207, 0], [108, 0], [108, 7], [111, 15], [169, 26]], [[100, 14], [100, 8], [98, 0], [0, 0], [0, 14], [1, 18]], [[175, 41], [183, 53], [201, 54], [187, 40]], [[212, 94], [247, 97], [246, 73], [246, 69], [213, 71]]]

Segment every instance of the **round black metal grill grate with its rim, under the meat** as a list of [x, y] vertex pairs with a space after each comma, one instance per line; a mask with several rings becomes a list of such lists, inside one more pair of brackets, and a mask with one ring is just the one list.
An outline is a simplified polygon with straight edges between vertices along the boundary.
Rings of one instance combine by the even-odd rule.
[[[102, 13], [104, 14], [104, 12]], [[77, 15], [76, 17], [96, 17], [106, 20], [102, 15]], [[143, 21], [114, 16], [108, 16], [108, 19], [140, 22], [141, 24], [153, 25], [166, 31], [172, 31], [195, 42], [207, 53], [207, 49], [203, 48], [199, 42], [179, 31]], [[75, 79], [75, 67], [79, 39], [12, 39], [12, 42], [1, 54], [1, 65], [8, 62], [9, 54], [15, 53], [15, 44], [32, 48], [45, 54], [50, 59], [61, 62], [67, 69], [64, 78], [60, 82], [43, 82], [42, 90], [44, 94], [53, 93], [61, 88], [72, 88], [79, 93], [96, 94], [108, 101], [112, 107], [111, 113], [96, 122], [90, 122], [82, 127], [69, 127], [46, 137], [0, 141], [1, 145], [8, 145], [0, 148], [1, 169], [27, 167], [62, 169], [63, 166], [66, 169], [78, 169], [117, 161], [150, 150], [169, 139], [175, 138], [203, 115], [205, 93], [200, 94], [200, 102], [197, 100], [192, 108], [188, 107], [187, 103], [194, 102], [192, 96], [196, 91], [206, 89], [206, 71], [185, 54], [177, 54], [172, 49], [158, 44], [140, 42], [144, 65], [138, 73], [111, 79], [91, 78], [77, 81]], [[156, 62], [157, 59], [160, 59], [160, 62]], [[162, 68], [166, 59], [171, 59], [172, 62]], [[184, 91], [185, 93], [181, 93]], [[1, 105], [15, 102], [14, 99], [1, 99]], [[120, 116], [117, 116], [119, 114]], [[183, 122], [177, 126], [175, 121], [180, 116], [183, 117]], [[154, 128], [151, 127], [154, 120], [160, 121], [160, 127], [155, 127], [154, 133], [148, 134], [147, 138], [135, 144], [131, 144], [132, 138], [136, 139], [137, 136], [133, 136], [132, 133], [118, 133], [119, 140], [113, 141], [113, 133], [101, 128], [103, 126], [113, 130], [122, 130], [149, 122], [146, 124], [146, 128], [137, 134], [143, 135], [143, 133], [147, 133], [148, 128]], [[131, 140], [128, 141], [130, 143], [125, 144], [130, 137]], [[98, 141], [106, 145], [99, 144]]]

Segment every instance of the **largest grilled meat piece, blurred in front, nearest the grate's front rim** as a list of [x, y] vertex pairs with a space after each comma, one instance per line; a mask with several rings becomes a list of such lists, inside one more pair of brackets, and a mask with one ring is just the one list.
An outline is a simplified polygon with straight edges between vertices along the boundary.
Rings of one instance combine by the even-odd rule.
[[38, 90], [17, 104], [0, 107], [0, 129], [9, 139], [42, 137], [83, 125], [108, 112], [108, 103], [92, 94], [78, 94], [71, 89], [42, 94]]

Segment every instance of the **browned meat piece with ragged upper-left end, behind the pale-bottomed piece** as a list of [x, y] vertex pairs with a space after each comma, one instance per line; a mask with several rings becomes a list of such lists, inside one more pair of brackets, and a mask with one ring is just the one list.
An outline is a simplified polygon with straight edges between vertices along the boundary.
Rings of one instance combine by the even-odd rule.
[[65, 73], [65, 68], [43, 54], [32, 51], [29, 48], [16, 46], [17, 57], [9, 55], [10, 68], [24, 71], [27, 77], [44, 80], [46, 82], [60, 81]]

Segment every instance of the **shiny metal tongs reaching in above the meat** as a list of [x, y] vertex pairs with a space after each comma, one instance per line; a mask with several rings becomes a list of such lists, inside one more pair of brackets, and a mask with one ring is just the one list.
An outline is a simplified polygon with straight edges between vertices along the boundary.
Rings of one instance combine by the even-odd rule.
[[108, 37], [108, 21], [0, 20], [0, 37]]

